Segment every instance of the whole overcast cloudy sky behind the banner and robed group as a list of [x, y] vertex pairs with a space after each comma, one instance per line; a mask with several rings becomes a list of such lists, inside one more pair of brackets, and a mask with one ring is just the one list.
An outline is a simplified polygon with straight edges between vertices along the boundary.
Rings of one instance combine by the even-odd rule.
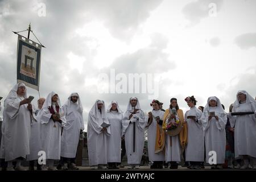
[[[16, 83], [17, 36], [11, 31], [31, 22], [46, 46], [40, 95], [55, 91], [64, 103], [78, 92], [85, 125], [97, 98], [106, 105], [117, 100], [125, 110], [137, 96], [150, 111], [152, 88], [164, 108], [172, 97], [185, 111], [187, 96], [194, 95], [197, 106], [217, 96], [228, 111], [237, 90], [256, 96], [255, 17], [254, 0], [0, 0], [0, 96]], [[129, 84], [134, 73], [147, 77], [138, 93]], [[122, 92], [113, 89], [118, 82], [127, 83]], [[39, 97], [30, 88], [28, 95]]]

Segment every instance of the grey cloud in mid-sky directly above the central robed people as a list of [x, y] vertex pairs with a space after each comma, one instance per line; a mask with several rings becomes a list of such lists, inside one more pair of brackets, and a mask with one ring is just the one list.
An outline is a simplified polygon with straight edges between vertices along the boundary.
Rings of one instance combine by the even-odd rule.
[[[174, 61], [164, 52], [168, 40], [160, 34], [151, 37], [151, 44], [148, 47], [139, 49], [134, 53], [127, 53], [118, 57], [110, 68], [116, 69], [119, 73], [163, 73], [175, 69]], [[166, 65], [169, 65], [168, 67]]]

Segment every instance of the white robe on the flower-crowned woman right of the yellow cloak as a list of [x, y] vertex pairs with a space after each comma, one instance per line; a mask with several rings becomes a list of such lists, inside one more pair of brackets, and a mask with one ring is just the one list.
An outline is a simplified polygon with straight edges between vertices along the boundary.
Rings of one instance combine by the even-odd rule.
[[[185, 113], [185, 121], [188, 125], [188, 144], [185, 148], [186, 161], [204, 162], [204, 132], [200, 121], [202, 111], [192, 107]], [[188, 115], [196, 116], [198, 123], [193, 119], [188, 119]]]

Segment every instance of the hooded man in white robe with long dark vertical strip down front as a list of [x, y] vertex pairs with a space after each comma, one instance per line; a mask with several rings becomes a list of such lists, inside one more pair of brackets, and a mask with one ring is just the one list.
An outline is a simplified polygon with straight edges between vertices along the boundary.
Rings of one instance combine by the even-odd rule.
[[122, 121], [129, 169], [138, 169], [141, 163], [146, 124], [145, 114], [141, 110], [138, 98], [131, 97]]

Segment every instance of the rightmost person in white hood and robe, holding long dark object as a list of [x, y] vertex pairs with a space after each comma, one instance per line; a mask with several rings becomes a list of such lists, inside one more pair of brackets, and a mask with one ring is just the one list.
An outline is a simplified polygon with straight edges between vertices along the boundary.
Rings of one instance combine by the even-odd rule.
[[[243, 98], [241, 98], [243, 97]], [[246, 112], [256, 110], [256, 101], [245, 90], [237, 92], [237, 99], [233, 104], [233, 112]], [[256, 112], [255, 112], [256, 113]], [[234, 131], [234, 154], [235, 157], [242, 158], [245, 169], [249, 166], [248, 158], [253, 160], [256, 169], [256, 114], [245, 114], [231, 116], [230, 125], [235, 128]]]

